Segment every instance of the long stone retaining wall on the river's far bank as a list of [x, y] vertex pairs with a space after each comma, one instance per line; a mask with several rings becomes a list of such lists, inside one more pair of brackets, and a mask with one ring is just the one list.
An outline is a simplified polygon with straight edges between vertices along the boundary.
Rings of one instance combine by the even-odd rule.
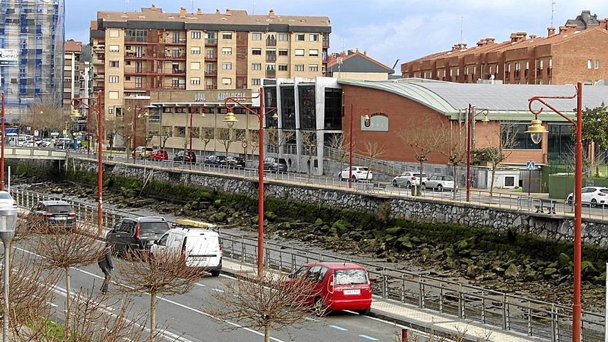
[[[68, 165], [73, 166], [71, 162]], [[75, 167], [83, 171], [97, 172], [95, 162], [79, 160]], [[244, 179], [220, 173], [198, 171], [169, 172], [124, 164], [106, 164], [105, 172], [110, 175], [136, 179], [153, 177], [157, 181], [192, 184], [205, 189], [257, 196], [257, 178]], [[347, 189], [323, 189], [308, 184], [287, 184], [274, 180], [267, 180], [265, 183], [265, 194], [281, 200], [319, 203], [319, 205], [354, 211], [372, 213], [386, 211], [392, 217], [405, 220], [491, 227], [497, 231], [514, 229], [520, 233], [533, 234], [551, 240], [573, 239], [573, 218], [557, 215], [525, 213], [437, 199], [397, 198], [396, 196], [357, 193]], [[608, 246], [608, 222], [584, 218], [582, 238], [585, 243]]]

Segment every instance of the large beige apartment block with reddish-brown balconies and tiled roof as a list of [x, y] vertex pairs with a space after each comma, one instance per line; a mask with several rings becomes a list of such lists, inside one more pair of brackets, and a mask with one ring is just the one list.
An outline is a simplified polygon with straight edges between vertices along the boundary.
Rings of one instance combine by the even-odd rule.
[[327, 17], [274, 10], [97, 12], [91, 88], [104, 92], [106, 117], [120, 117], [125, 97], [151, 91], [255, 89], [263, 79], [321, 76], [330, 32]]

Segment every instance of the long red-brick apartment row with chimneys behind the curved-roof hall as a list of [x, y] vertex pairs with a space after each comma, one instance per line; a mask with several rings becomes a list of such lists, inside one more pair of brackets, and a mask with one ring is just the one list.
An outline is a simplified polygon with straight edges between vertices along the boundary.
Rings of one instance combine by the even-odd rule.
[[480, 39], [476, 46], [401, 64], [403, 77], [448, 82], [504, 84], [593, 84], [608, 79], [608, 19], [583, 11], [567, 24], [547, 29], [547, 37], [513, 32], [507, 41]]

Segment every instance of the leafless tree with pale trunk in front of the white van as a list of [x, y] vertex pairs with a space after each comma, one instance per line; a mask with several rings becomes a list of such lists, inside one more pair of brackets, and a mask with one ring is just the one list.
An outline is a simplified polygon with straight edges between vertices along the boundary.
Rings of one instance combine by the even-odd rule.
[[171, 296], [189, 292], [201, 278], [200, 270], [187, 267], [179, 251], [165, 250], [151, 253], [131, 253], [124, 262], [117, 263], [123, 292], [150, 296], [150, 332], [156, 330], [156, 306], [159, 295]]

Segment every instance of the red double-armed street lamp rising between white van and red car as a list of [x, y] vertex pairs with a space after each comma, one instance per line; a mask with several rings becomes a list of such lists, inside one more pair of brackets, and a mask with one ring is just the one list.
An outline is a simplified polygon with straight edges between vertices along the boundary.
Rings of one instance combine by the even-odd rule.
[[[260, 98], [260, 109], [259, 111], [254, 111], [253, 109], [241, 104], [239, 102], [243, 99], [255, 99]], [[228, 104], [228, 102], [232, 102]], [[234, 113], [232, 113], [232, 109], [234, 106], [238, 104], [239, 106], [245, 108], [247, 113], [251, 113], [256, 115], [258, 118], [258, 122], [260, 122], [260, 133], [258, 136], [260, 137], [259, 144], [259, 158], [258, 158], [258, 276], [263, 276], [264, 274], [264, 115], [265, 107], [264, 107], [264, 88], [260, 88], [260, 93], [255, 97], [227, 97], [224, 100], [224, 105], [228, 109], [228, 113], [224, 117], [223, 122], [226, 122], [229, 129], [232, 129], [234, 124], [238, 122]], [[276, 115], [276, 108], [272, 108], [271, 111], [274, 111], [273, 118], [278, 117]]]

